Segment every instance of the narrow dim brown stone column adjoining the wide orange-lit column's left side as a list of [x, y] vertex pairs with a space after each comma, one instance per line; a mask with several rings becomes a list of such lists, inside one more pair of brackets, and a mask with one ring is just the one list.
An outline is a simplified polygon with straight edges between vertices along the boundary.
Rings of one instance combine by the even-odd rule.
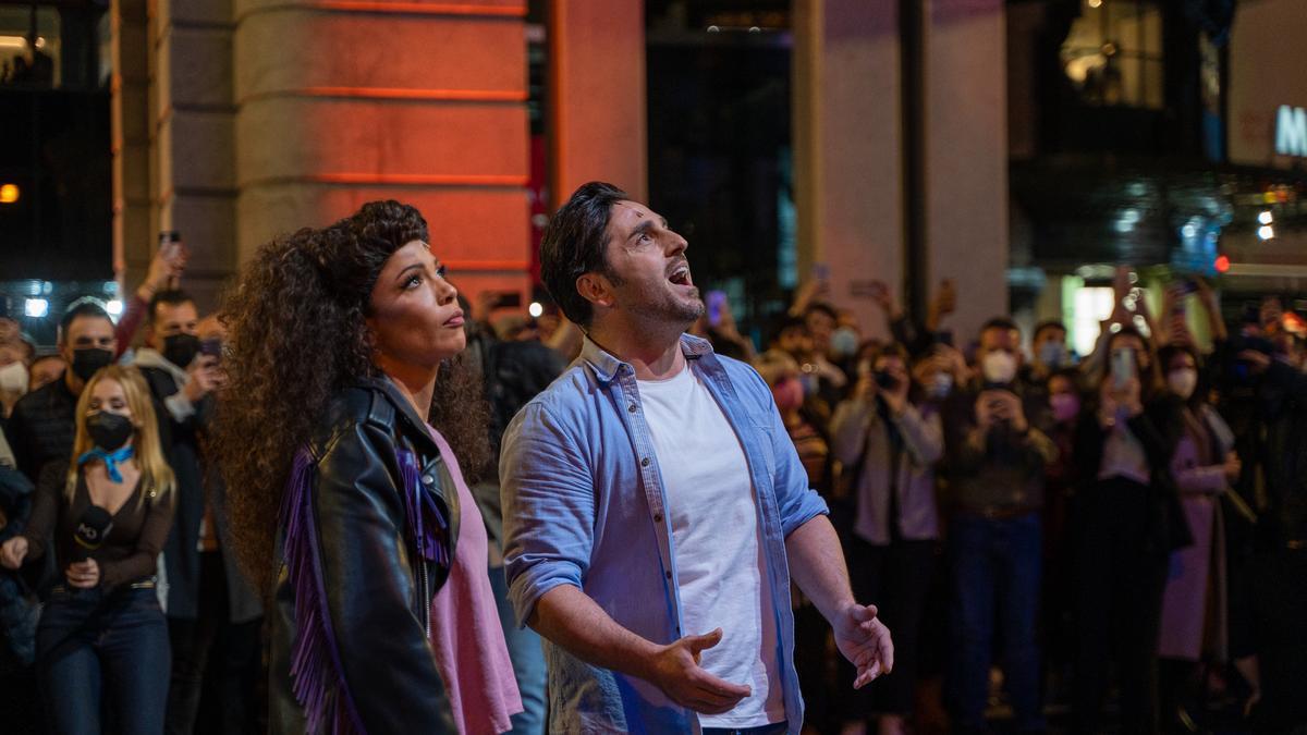
[[158, 0], [154, 41], [154, 204], [190, 252], [183, 288], [200, 313], [235, 269], [235, 106], [229, 0]]

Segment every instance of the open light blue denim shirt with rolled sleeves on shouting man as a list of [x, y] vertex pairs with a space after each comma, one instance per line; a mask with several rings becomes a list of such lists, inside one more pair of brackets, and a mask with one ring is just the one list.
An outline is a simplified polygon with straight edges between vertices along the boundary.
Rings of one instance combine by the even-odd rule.
[[[797, 735], [804, 705], [793, 667], [786, 536], [826, 513], [826, 504], [808, 487], [758, 373], [714, 354], [707, 341], [689, 335], [681, 337], [681, 349], [744, 446], [758, 498], [765, 582], [775, 604], [786, 718]], [[541, 595], [572, 585], [618, 624], [655, 643], [707, 632], [681, 630], [667, 493], [631, 365], [586, 340], [580, 357], [508, 425], [499, 475], [508, 596], [519, 625]], [[723, 620], [721, 626], [742, 623]], [[699, 730], [693, 711], [647, 681], [584, 663], [549, 641], [545, 660], [550, 732]]]

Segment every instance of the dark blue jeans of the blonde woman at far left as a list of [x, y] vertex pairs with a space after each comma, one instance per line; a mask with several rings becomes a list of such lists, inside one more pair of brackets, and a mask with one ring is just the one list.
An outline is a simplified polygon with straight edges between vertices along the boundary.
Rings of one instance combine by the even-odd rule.
[[163, 731], [167, 623], [153, 587], [56, 587], [37, 628], [37, 677], [54, 732], [103, 732], [107, 692], [115, 730]]

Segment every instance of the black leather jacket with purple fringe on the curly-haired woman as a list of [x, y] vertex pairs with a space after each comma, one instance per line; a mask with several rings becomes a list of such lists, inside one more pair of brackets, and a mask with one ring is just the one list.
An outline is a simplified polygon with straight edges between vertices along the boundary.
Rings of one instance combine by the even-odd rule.
[[[346, 731], [457, 732], [444, 683], [429, 643], [431, 596], [447, 566], [429, 562], [409, 531], [404, 472], [397, 450], [413, 453], [418, 480], [437, 498], [448, 527], [444, 558], [459, 532], [459, 497], [426, 424], [388, 379], [341, 392], [319, 434], [308, 442], [311, 509], [329, 641], [340, 662], [354, 723]], [[412, 497], [412, 496], [409, 496]], [[305, 732], [290, 667], [297, 636], [295, 590], [286, 565], [285, 521], [276, 540], [274, 608], [271, 613], [269, 730]], [[316, 600], [315, 600], [316, 602]], [[325, 655], [324, 660], [333, 660]], [[331, 723], [327, 723], [327, 728]]]

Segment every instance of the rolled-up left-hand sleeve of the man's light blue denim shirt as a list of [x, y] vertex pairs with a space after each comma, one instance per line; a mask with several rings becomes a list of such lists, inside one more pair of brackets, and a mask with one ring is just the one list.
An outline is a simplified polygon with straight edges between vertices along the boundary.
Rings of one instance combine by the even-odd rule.
[[502, 447], [505, 574], [524, 626], [549, 590], [582, 589], [595, 543], [595, 480], [574, 433], [541, 404], [514, 419]]

